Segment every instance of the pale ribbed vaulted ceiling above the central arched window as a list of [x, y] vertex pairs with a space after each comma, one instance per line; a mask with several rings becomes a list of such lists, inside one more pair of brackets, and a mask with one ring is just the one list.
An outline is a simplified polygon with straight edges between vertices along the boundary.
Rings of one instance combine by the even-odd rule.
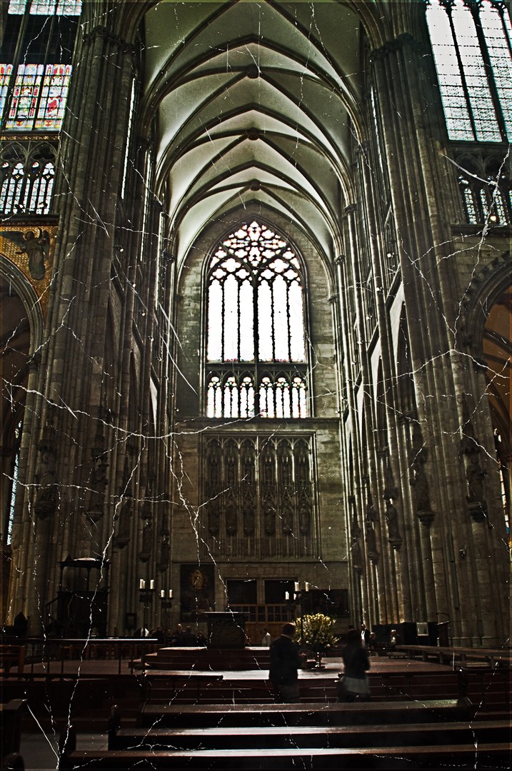
[[143, 123], [157, 126], [155, 192], [167, 189], [178, 261], [206, 224], [250, 204], [334, 257], [364, 120], [355, 11], [169, 0], [144, 35]]

